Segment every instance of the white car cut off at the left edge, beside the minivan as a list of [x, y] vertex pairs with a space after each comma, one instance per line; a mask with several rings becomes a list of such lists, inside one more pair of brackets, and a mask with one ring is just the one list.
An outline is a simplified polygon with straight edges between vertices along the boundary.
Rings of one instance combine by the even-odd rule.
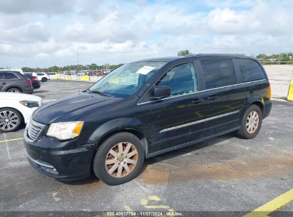
[[16, 131], [42, 104], [38, 96], [0, 92], [0, 132]]

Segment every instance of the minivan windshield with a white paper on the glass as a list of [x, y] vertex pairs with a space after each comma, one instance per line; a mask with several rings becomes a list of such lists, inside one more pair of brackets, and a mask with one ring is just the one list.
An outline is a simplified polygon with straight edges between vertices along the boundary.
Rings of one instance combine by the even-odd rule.
[[125, 64], [110, 72], [88, 91], [104, 96], [126, 98], [133, 96], [167, 62], [136, 62]]

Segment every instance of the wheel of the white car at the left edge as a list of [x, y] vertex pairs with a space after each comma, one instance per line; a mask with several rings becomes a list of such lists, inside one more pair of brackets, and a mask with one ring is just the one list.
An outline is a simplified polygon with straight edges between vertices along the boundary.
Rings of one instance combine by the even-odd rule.
[[22, 116], [16, 109], [0, 109], [0, 131], [8, 133], [16, 131], [22, 122]]

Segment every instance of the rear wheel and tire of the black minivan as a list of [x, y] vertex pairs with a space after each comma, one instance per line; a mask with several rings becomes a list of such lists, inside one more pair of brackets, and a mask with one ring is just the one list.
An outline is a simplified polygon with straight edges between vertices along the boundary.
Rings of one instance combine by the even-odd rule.
[[241, 121], [238, 136], [245, 139], [254, 138], [262, 126], [262, 110], [257, 105], [250, 106]]

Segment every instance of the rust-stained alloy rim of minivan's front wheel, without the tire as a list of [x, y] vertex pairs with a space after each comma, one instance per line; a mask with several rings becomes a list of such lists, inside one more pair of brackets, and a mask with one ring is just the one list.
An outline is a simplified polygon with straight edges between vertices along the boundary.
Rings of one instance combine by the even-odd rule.
[[138, 162], [138, 151], [129, 142], [121, 142], [110, 148], [105, 161], [106, 171], [115, 178], [127, 176]]

